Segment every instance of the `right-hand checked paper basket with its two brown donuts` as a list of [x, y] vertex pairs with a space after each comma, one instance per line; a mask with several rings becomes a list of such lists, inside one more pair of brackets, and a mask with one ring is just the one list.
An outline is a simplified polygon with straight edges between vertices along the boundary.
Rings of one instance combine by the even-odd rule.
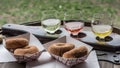
[[85, 62], [92, 50], [91, 46], [69, 36], [43, 45], [53, 58], [70, 67]]

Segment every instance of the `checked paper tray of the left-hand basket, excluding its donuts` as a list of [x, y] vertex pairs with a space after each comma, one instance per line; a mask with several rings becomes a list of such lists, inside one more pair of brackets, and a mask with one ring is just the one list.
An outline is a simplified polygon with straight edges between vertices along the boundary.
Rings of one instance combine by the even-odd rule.
[[[14, 55], [13, 52], [10, 51], [10, 53], [17, 59], [18, 62], [29, 62], [29, 61], [36, 60], [44, 50], [39, 40], [30, 33], [15, 36], [15, 37], [10, 37], [10, 38], [26, 38], [27, 40], [29, 40], [29, 45], [36, 46], [39, 49], [39, 52], [37, 53], [31, 54], [31, 55], [23, 55], [23, 56]], [[4, 42], [4, 46], [5, 46], [5, 42]]]

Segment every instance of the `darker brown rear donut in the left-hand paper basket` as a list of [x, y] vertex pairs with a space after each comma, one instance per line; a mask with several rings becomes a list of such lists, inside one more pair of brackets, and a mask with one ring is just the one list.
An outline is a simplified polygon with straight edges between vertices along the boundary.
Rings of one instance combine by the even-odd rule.
[[22, 48], [28, 45], [28, 40], [25, 38], [9, 38], [6, 39], [6, 48], [7, 49], [16, 49]]

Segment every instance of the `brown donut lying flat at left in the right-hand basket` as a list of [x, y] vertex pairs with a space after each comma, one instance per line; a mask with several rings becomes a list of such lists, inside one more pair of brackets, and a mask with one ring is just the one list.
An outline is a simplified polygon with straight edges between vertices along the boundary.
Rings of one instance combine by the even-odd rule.
[[57, 56], [62, 56], [64, 52], [67, 52], [74, 47], [74, 44], [71, 43], [54, 43], [48, 47], [48, 52]]

